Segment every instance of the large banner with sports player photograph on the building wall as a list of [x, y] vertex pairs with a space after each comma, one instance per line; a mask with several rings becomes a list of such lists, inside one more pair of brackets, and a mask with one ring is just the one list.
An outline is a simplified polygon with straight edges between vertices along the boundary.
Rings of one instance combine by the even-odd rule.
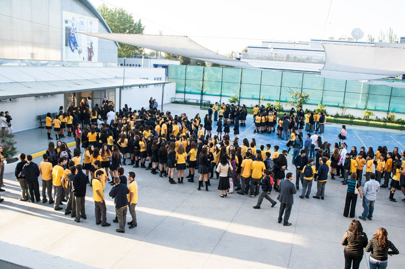
[[98, 19], [63, 11], [63, 26], [63, 61], [97, 62], [98, 38], [80, 33], [98, 33]]

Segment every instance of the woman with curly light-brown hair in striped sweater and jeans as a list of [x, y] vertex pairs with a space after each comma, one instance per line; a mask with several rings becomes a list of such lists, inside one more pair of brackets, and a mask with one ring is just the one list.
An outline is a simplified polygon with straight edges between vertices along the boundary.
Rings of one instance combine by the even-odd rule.
[[[388, 265], [388, 255], [399, 254], [394, 244], [387, 239], [388, 233], [384, 228], [380, 228], [369, 241], [366, 252], [370, 252], [370, 269], [386, 268]], [[388, 251], [391, 249], [391, 251]]]

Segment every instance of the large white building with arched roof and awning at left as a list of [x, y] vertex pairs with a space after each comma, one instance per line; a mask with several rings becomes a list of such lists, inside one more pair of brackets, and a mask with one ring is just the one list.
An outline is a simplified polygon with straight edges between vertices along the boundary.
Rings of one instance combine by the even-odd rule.
[[0, 6], [0, 110], [10, 112], [14, 131], [36, 128], [37, 115], [86, 97], [94, 106], [106, 96], [116, 109], [174, 97], [164, 69], [117, 67], [116, 42], [81, 34], [111, 32], [89, 1], [0, 0]]

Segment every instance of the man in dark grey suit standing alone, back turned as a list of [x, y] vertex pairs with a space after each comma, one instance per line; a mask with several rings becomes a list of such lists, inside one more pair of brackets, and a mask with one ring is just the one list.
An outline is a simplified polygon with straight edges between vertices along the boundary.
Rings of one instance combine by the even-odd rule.
[[282, 214], [284, 210], [286, 213], [284, 215], [284, 226], [290, 226], [291, 223], [288, 222], [290, 219], [291, 208], [294, 203], [294, 194], [297, 193], [293, 180], [293, 173], [287, 173], [286, 179], [280, 182], [280, 192], [278, 194], [277, 200], [280, 201], [280, 210], [278, 211], [278, 223], [282, 221]]

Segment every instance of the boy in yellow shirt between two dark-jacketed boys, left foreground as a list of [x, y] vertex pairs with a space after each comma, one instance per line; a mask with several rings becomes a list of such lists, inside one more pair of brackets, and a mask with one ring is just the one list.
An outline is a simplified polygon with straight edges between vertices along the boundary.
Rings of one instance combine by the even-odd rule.
[[92, 180], [93, 186], [93, 199], [95, 203], [95, 215], [96, 215], [96, 225], [101, 223], [101, 226], [110, 226], [110, 223], [107, 223], [106, 213], [107, 208], [104, 201], [103, 186], [101, 181], [103, 180], [104, 173], [99, 170], [96, 172], [96, 177]]

